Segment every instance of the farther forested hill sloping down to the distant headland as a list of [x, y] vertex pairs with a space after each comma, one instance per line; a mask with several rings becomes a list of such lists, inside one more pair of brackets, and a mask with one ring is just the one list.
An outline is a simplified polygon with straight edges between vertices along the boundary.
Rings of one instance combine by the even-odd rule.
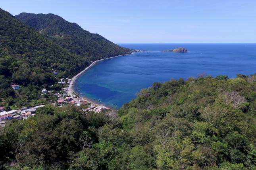
[[87, 55], [90, 60], [130, 52], [129, 49], [120, 47], [99, 34], [83, 30], [76, 23], [69, 23], [58, 15], [21, 13], [15, 17], [70, 52], [82, 56]]

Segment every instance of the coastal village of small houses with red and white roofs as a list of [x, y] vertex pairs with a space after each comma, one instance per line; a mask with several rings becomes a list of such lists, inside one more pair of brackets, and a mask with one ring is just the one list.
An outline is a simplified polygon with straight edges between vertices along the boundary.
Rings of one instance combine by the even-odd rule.
[[[58, 74], [58, 70], [54, 70], [54, 75]], [[56, 77], [57, 78], [57, 77]], [[62, 85], [62, 89], [60, 91], [48, 91], [47, 89], [42, 89], [42, 96], [47, 94], [56, 98], [56, 101], [52, 101], [49, 104], [53, 104], [56, 107], [65, 107], [67, 105], [79, 106], [85, 112], [85, 114], [89, 111], [93, 111], [95, 113], [99, 113], [101, 111], [110, 110], [103, 105], [96, 104], [79, 96], [79, 94], [74, 93], [73, 91], [69, 91], [68, 88], [71, 89], [72, 80], [69, 78], [61, 78], [58, 81], [58, 84]], [[20, 85], [13, 84], [11, 87], [16, 91], [21, 89]], [[25, 106], [19, 108], [18, 110], [6, 110], [5, 106], [0, 106], [0, 126], [4, 127], [6, 125], [6, 121], [15, 119], [15, 120], [24, 120], [36, 114], [37, 108], [44, 107], [45, 104], [40, 104], [38, 106]]]

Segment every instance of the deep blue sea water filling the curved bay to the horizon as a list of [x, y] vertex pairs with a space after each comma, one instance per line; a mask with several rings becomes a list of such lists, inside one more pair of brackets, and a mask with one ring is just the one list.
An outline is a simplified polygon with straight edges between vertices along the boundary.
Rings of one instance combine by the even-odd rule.
[[[81, 96], [120, 108], [154, 82], [196, 77], [256, 73], [256, 44], [119, 44], [137, 52], [96, 63], [74, 83]], [[185, 47], [188, 53], [161, 52]], [[115, 106], [115, 104], [117, 106]]]

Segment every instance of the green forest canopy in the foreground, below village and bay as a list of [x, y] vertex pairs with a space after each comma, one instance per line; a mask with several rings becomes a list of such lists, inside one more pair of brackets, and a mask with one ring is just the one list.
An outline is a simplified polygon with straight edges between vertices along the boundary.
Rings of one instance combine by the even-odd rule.
[[46, 106], [0, 130], [6, 170], [254, 170], [256, 74], [154, 83], [117, 113]]

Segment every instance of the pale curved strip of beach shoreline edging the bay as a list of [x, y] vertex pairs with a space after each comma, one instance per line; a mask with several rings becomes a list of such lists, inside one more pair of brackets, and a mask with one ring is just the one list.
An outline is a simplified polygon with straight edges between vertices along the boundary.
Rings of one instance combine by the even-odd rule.
[[[131, 53], [131, 54], [132, 54], [132, 53]], [[124, 55], [130, 55], [130, 54], [124, 54]], [[124, 55], [117, 55], [117, 56], [114, 56], [114, 57], [121, 57], [121, 56], [124, 56]], [[69, 83], [69, 86], [68, 86], [68, 88], [67, 88], [67, 95], [73, 96], [73, 93], [75, 93], [75, 91], [74, 91], [74, 89], [73, 89], [73, 83], [76, 81], [76, 79], [77, 79], [79, 76], [81, 76], [81, 74], [83, 74], [84, 72], [86, 72], [87, 70], [89, 70], [89, 69], [90, 69], [92, 66], [94, 66], [94, 64], [96, 64], [97, 62], [100, 62], [100, 61], [102, 61], [102, 60], [112, 59], [112, 58], [114, 58], [114, 57], [109, 57], [109, 58], [106, 58], [106, 59], [96, 60], [96, 61], [92, 62], [92, 63], [90, 64], [90, 66], [88, 66], [88, 67], [85, 68], [83, 71], [81, 71], [80, 73], [78, 73], [77, 75], [75, 75], [75, 76], [71, 79], [71, 81], [70, 81], [70, 83]], [[104, 106], [104, 105], [102, 105], [102, 104], [97, 104], [95, 101], [90, 100], [89, 98], [87, 98], [87, 97], [85, 97], [85, 96], [82, 96], [82, 97], [79, 96], [79, 98], [73, 98], [73, 100], [75, 100], [79, 106], [80, 106], [80, 104], [81, 104], [81, 101], [86, 101], [86, 102], [90, 102], [91, 104], [93, 104], [93, 105], [95, 105], [95, 106], [103, 106], [103, 107], [106, 107], [106, 106]]]

